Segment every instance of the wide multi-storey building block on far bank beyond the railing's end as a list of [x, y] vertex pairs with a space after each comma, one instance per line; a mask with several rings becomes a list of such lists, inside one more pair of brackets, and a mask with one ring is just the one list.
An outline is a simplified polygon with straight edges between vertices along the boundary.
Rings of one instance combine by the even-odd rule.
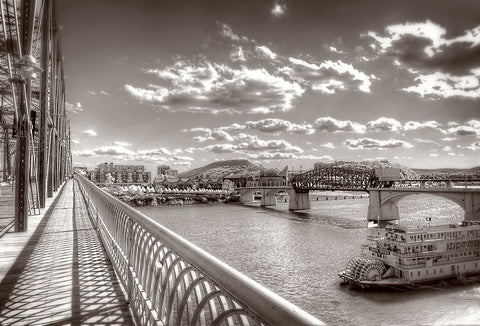
[[113, 182], [119, 184], [145, 184], [152, 180], [151, 173], [145, 171], [143, 165], [114, 165], [113, 163], [99, 164], [95, 170], [88, 173], [88, 177], [94, 183], [105, 183], [109, 173], [113, 177]]

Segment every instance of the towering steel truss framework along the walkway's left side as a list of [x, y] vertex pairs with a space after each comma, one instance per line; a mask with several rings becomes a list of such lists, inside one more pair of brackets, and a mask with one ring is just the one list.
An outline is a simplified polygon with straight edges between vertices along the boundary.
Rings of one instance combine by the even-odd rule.
[[23, 231], [71, 173], [55, 1], [1, 0], [0, 22], [0, 182]]

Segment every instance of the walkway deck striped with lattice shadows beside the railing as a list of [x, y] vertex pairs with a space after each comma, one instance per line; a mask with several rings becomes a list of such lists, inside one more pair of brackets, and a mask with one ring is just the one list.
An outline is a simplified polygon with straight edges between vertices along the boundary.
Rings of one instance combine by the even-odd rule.
[[73, 181], [0, 248], [0, 325], [133, 324]]

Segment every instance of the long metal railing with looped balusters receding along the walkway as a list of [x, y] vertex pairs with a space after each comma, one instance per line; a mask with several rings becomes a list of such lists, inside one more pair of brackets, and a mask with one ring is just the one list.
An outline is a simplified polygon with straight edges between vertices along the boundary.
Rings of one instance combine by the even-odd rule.
[[323, 325], [76, 175], [140, 325]]

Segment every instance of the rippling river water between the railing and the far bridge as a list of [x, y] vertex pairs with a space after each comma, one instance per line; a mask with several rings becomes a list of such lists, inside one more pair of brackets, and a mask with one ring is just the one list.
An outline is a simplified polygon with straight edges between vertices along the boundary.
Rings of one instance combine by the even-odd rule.
[[[287, 203], [140, 211], [329, 325], [480, 325], [478, 284], [405, 291], [340, 285], [337, 272], [365, 242], [368, 199], [325, 201], [321, 195], [311, 195], [311, 210], [295, 213]], [[416, 225], [430, 216], [431, 224], [463, 216], [456, 204], [425, 195], [403, 199], [399, 209], [402, 221]]]

